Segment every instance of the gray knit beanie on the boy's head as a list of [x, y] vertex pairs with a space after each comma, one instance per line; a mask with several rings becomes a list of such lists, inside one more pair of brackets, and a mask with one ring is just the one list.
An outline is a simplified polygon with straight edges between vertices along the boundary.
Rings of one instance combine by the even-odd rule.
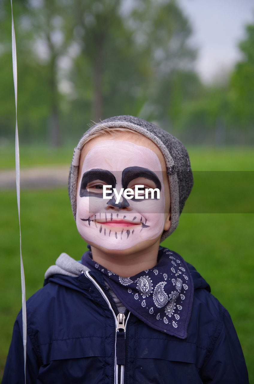
[[69, 198], [71, 200], [74, 219], [76, 220], [79, 157], [84, 142], [89, 136], [98, 131], [117, 127], [129, 128], [148, 137], [148, 139], [152, 140], [160, 148], [165, 158], [170, 186], [171, 227], [168, 231], [163, 232], [161, 237], [161, 241], [163, 241], [176, 229], [179, 216], [193, 186], [190, 159], [185, 146], [183, 146], [176, 137], [156, 125], [134, 116], [115, 116], [95, 124], [84, 133], [74, 149], [68, 182]]

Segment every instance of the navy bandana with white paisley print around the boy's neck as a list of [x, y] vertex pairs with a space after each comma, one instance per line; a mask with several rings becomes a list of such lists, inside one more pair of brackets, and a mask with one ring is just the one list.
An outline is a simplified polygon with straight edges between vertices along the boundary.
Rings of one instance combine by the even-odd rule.
[[155, 267], [131, 277], [118, 276], [94, 262], [91, 250], [81, 262], [101, 271], [124, 306], [145, 324], [185, 339], [193, 301], [190, 271], [183, 258], [167, 248], [159, 248], [157, 260]]

